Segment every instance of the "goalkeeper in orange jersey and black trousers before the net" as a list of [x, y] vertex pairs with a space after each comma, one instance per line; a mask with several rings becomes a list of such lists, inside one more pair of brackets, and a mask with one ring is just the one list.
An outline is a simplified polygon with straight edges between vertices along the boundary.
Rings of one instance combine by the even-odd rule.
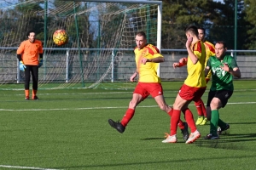
[[20, 71], [25, 71], [25, 99], [29, 99], [29, 83], [32, 75], [32, 99], [38, 99], [38, 68], [43, 65], [42, 42], [36, 39], [35, 31], [27, 32], [28, 39], [17, 49]]

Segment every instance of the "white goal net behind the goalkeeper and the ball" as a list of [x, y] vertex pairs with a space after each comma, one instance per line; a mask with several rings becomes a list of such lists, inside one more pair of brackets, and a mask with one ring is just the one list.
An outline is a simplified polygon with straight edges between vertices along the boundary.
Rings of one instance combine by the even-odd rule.
[[[38, 88], [133, 88], [137, 31], [145, 31], [149, 43], [160, 44], [160, 3], [137, 2], [0, 3], [0, 88], [15, 83], [23, 88], [16, 50], [28, 30], [35, 30], [44, 43]], [[69, 37], [63, 46], [52, 40], [59, 29]]]

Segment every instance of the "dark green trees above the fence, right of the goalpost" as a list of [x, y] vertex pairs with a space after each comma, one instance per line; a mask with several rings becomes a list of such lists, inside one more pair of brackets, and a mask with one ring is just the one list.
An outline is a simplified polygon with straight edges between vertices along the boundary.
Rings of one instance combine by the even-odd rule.
[[[247, 0], [255, 3], [253, 0]], [[246, 1], [245, 1], [246, 2]], [[247, 39], [247, 26], [244, 20], [244, 3], [238, 0], [237, 39]], [[252, 8], [253, 20], [253, 8]], [[224, 0], [224, 3], [213, 0], [164, 0], [163, 1], [162, 48], [184, 48], [186, 37], [183, 29], [194, 24], [207, 30], [207, 40], [217, 42], [224, 40], [228, 48], [234, 48], [235, 35], [235, 2]], [[256, 32], [256, 31], [255, 31]], [[237, 47], [245, 48], [242, 41]]]

